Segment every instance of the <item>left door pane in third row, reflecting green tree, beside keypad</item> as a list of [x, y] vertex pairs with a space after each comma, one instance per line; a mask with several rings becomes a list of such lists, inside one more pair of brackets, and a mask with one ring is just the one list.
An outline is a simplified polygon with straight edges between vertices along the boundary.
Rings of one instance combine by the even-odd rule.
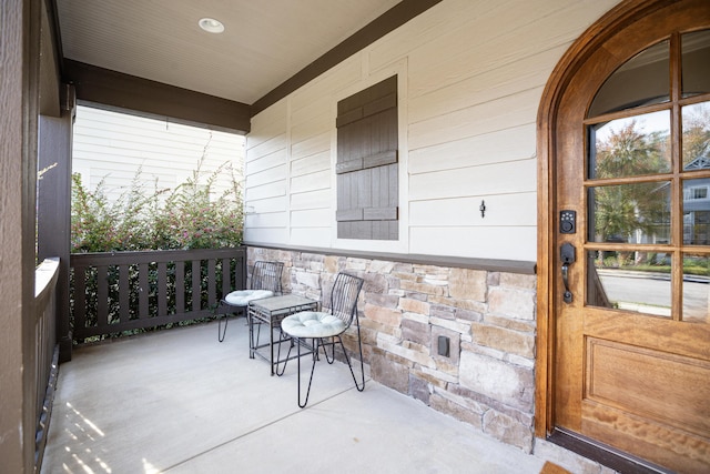
[[588, 219], [590, 242], [669, 243], [670, 182], [589, 188]]

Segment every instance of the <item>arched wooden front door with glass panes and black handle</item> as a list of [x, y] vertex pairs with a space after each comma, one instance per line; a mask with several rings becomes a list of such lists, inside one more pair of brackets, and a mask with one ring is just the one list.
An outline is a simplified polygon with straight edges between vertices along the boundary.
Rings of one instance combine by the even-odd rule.
[[552, 420], [708, 473], [710, 1], [650, 10], [580, 63], [555, 120]]

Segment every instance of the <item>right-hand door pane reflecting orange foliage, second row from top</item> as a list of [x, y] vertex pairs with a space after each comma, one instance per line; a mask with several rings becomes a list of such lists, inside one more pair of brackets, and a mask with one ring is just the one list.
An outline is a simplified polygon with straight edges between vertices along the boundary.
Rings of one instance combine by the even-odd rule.
[[710, 102], [683, 107], [683, 170], [710, 169]]

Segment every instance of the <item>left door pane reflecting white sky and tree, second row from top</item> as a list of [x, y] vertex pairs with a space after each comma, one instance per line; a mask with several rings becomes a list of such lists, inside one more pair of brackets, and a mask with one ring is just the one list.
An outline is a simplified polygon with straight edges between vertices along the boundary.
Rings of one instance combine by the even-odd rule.
[[667, 173], [671, 169], [670, 112], [589, 127], [589, 178]]

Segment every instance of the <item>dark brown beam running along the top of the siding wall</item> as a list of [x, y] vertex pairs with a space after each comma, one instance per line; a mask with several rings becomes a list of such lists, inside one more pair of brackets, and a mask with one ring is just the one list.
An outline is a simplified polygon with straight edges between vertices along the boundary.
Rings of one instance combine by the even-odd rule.
[[403, 0], [252, 104], [252, 117], [374, 43], [442, 0]]

